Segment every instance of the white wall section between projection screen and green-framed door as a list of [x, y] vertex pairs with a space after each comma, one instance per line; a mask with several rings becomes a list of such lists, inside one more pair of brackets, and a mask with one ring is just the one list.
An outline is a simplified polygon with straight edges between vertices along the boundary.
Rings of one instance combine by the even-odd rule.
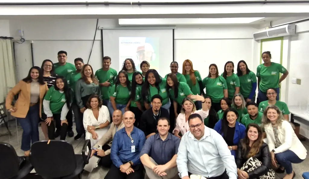
[[252, 33], [256, 27], [244, 25], [177, 26], [175, 30], [175, 61], [182, 71], [183, 61], [189, 59], [193, 68], [205, 78], [209, 65], [215, 63], [219, 74], [223, 73], [227, 61], [233, 61], [236, 73], [239, 60], [245, 60], [249, 69], [253, 67]]

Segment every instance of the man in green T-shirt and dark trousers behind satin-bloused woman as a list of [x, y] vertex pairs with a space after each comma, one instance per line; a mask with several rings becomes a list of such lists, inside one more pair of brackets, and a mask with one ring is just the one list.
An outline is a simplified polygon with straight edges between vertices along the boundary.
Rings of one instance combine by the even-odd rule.
[[[73, 91], [75, 90], [76, 82], [82, 77], [80, 72], [83, 66], [85, 65], [84, 60], [82, 58], [76, 58], [74, 60], [74, 64], [75, 64], [76, 70], [74, 72], [69, 73], [67, 76], [68, 85], [71, 87]], [[74, 139], [78, 140], [82, 137], [83, 134], [85, 134], [85, 129], [83, 126], [83, 117], [82, 117], [83, 114], [80, 112], [79, 107], [76, 104], [75, 98], [73, 99], [72, 110], [74, 113], [74, 121], [75, 121], [76, 132], [77, 132], [77, 135], [74, 137]]]

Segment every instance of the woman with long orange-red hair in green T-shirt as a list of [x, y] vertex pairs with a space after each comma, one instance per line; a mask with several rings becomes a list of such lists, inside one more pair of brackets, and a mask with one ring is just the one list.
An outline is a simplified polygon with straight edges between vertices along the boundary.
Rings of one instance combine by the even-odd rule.
[[[184, 63], [182, 64], [182, 74], [186, 78], [187, 84], [189, 85], [190, 90], [193, 94], [205, 94], [203, 90], [201, 74], [197, 70], [193, 69], [193, 64], [191, 60], [184, 60]], [[197, 109], [201, 109], [201, 102], [197, 101], [194, 102], [194, 104]]]

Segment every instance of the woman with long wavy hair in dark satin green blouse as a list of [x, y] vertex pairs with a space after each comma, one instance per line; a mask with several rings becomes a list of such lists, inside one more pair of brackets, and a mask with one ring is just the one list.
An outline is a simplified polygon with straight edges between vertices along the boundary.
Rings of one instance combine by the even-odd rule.
[[98, 94], [101, 98], [99, 81], [95, 78], [92, 67], [85, 64], [81, 70], [81, 78], [76, 82], [75, 96], [80, 112], [84, 113], [91, 94]]

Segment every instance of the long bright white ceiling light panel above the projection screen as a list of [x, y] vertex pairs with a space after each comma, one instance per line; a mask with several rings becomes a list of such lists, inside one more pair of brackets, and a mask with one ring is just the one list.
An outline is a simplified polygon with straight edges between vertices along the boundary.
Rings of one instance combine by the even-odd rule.
[[254, 18], [181, 18], [181, 19], [119, 19], [120, 25], [194, 25], [194, 24], [244, 24], [264, 19]]

